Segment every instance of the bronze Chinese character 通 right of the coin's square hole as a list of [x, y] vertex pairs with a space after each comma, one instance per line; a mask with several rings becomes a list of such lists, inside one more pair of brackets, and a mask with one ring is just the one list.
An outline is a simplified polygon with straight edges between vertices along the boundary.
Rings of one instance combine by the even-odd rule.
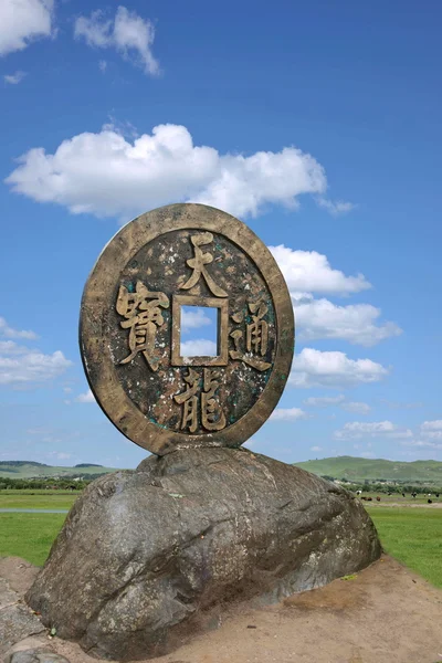
[[[230, 358], [244, 361], [260, 371], [267, 370], [272, 365], [262, 357], [266, 354], [269, 346], [269, 324], [263, 319], [269, 307], [263, 302], [250, 303], [249, 311], [252, 314], [252, 322], [245, 325], [245, 351], [242, 349], [244, 334], [241, 329], [234, 329], [230, 333], [234, 346], [234, 349], [229, 352]], [[231, 317], [236, 324], [243, 320], [241, 313], [235, 313]]]

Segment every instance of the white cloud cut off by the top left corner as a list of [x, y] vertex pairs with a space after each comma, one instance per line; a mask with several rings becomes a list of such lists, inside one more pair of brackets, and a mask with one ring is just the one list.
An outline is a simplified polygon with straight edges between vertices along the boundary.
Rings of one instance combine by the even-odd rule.
[[0, 55], [22, 51], [30, 42], [50, 36], [53, 0], [1, 0]]

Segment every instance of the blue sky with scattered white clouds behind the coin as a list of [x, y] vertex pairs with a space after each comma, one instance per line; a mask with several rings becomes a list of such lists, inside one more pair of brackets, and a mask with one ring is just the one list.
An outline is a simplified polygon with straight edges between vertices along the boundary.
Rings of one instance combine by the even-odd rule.
[[187, 200], [245, 221], [292, 293], [290, 383], [250, 446], [442, 460], [441, 14], [3, 0], [0, 460], [146, 455], [88, 396], [80, 299], [122, 223]]

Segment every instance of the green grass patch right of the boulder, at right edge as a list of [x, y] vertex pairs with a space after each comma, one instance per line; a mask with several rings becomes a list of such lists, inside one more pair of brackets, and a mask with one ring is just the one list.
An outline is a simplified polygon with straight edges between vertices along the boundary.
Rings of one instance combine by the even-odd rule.
[[442, 587], [442, 509], [368, 507], [385, 550]]

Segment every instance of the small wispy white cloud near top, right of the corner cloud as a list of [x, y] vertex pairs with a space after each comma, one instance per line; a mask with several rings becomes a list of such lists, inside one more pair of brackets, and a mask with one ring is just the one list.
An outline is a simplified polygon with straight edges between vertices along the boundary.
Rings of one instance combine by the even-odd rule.
[[159, 73], [158, 61], [151, 52], [154, 24], [126, 7], [118, 7], [113, 20], [107, 20], [99, 9], [93, 11], [90, 18], [80, 17], [75, 21], [74, 36], [84, 39], [90, 46], [116, 49], [125, 60], [144, 69], [146, 74]]

